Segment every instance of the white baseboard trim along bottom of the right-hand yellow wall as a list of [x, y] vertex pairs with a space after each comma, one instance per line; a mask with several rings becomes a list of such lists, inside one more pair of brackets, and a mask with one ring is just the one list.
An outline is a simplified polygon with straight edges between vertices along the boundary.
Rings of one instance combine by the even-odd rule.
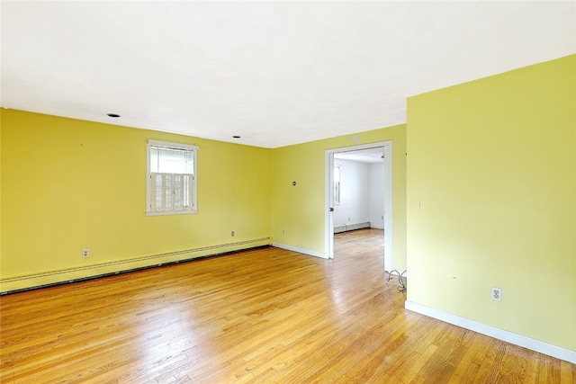
[[519, 345], [532, 351], [544, 353], [557, 359], [576, 364], [576, 351], [541, 342], [527, 336], [514, 334], [494, 326], [487, 326], [477, 321], [455, 316], [450, 313], [446, 313], [435, 308], [429, 308], [412, 301], [406, 300], [404, 303], [404, 308], [411, 310], [412, 312], [417, 312], [421, 315], [437, 318], [438, 320], [442, 320], [455, 326], [461, 326], [465, 329], [470, 329], [471, 331], [478, 332], [482, 335], [491, 336], [495, 339], [499, 339], [510, 344]]

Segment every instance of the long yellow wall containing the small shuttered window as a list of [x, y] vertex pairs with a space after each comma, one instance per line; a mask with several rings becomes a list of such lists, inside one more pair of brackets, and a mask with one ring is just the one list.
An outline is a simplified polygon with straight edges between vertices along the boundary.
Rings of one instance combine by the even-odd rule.
[[[2, 291], [271, 243], [270, 149], [1, 113]], [[201, 147], [197, 214], [146, 216], [148, 138]], [[108, 265], [210, 246], [220, 247]]]

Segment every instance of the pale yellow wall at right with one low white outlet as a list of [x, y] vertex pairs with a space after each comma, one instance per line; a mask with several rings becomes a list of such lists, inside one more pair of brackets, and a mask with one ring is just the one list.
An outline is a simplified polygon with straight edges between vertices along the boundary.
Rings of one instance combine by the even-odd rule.
[[411, 97], [407, 140], [408, 299], [576, 350], [576, 55]]

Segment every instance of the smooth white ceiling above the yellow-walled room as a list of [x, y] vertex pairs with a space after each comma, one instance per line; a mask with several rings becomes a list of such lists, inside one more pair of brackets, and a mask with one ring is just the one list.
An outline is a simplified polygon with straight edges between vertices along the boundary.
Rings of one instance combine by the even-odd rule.
[[576, 52], [572, 1], [1, 6], [3, 107], [257, 147], [403, 123], [410, 95]]

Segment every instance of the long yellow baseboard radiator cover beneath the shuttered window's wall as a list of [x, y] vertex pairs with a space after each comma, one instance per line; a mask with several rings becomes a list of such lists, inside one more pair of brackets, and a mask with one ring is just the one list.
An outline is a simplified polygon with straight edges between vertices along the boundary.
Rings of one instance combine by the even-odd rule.
[[95, 263], [75, 268], [15, 276], [0, 279], [0, 295], [24, 290], [35, 290], [69, 282], [96, 279], [112, 274], [133, 272], [172, 263], [185, 263], [206, 257], [227, 255], [251, 248], [271, 245], [271, 237], [262, 237], [217, 246], [202, 246], [164, 254], [146, 255], [114, 262]]

